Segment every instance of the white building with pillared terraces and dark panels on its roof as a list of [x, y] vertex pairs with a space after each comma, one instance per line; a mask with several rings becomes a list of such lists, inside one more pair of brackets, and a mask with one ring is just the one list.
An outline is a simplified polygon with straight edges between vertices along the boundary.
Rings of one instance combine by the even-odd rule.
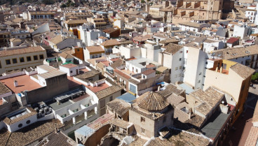
[[97, 103], [83, 89], [77, 88], [54, 97], [54, 101], [46, 103], [55, 119], [64, 124], [65, 134], [97, 119]]

